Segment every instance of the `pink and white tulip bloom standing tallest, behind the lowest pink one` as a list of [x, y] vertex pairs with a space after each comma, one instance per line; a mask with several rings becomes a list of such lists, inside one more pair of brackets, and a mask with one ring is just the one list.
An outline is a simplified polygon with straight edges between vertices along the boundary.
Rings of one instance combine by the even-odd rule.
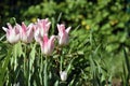
[[48, 18], [38, 19], [35, 28], [35, 40], [39, 42], [44, 34], [48, 34], [51, 23]]

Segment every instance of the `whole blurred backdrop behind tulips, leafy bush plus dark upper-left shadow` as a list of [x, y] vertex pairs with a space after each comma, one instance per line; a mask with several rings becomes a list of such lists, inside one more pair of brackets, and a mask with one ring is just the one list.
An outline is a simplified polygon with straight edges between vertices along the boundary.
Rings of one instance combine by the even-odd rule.
[[44, 17], [57, 19], [62, 14], [63, 23], [100, 34], [99, 41], [108, 44], [108, 52], [120, 49], [122, 44], [130, 47], [129, 0], [1, 0], [0, 8], [1, 27], [8, 22], [13, 24], [11, 17], [21, 23]]

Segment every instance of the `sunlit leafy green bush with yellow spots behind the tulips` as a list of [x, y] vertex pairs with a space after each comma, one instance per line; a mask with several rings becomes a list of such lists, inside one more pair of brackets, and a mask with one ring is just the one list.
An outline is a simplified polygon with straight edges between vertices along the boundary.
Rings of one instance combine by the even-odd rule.
[[[130, 3], [127, 3], [129, 5]], [[49, 6], [47, 6], [49, 5]], [[74, 27], [81, 25], [83, 29], [93, 29], [100, 34], [101, 42], [106, 42], [107, 52], [119, 49], [121, 44], [129, 46], [127, 38], [130, 16], [126, 10], [123, 0], [65, 0], [56, 3], [53, 0], [42, 2], [38, 5], [30, 6], [25, 13], [26, 18], [36, 20], [37, 17], [52, 17], [55, 19], [62, 13], [62, 20]], [[61, 22], [60, 22], [61, 23]]]

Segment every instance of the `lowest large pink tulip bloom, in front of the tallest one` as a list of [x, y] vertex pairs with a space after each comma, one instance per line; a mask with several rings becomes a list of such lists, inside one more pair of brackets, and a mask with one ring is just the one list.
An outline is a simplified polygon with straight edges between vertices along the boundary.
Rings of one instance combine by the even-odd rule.
[[54, 39], [55, 35], [52, 35], [48, 39], [48, 34], [43, 35], [43, 41], [40, 41], [41, 51], [44, 55], [50, 56], [54, 49]]

